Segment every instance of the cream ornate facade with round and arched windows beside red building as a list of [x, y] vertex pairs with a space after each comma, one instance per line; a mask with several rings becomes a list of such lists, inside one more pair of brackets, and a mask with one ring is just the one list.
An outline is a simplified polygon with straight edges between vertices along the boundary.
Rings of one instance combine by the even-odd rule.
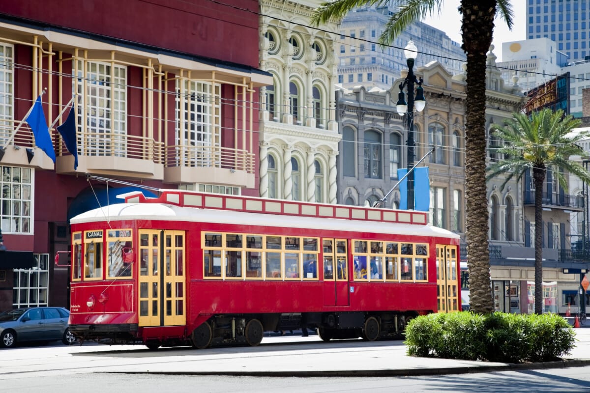
[[260, 1], [260, 196], [336, 203], [335, 22], [310, 28], [319, 1]]

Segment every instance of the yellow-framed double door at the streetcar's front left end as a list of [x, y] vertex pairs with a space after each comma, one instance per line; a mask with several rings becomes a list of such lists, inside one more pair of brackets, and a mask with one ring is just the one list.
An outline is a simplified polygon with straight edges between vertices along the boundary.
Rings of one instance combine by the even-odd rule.
[[185, 325], [185, 232], [140, 230], [139, 255], [139, 326]]

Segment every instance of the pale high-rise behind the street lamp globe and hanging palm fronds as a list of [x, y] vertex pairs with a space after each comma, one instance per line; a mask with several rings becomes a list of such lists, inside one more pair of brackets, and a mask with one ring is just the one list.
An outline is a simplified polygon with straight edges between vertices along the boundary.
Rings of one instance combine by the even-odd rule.
[[412, 23], [388, 47], [379, 45], [379, 35], [392, 13], [388, 6], [368, 6], [349, 12], [340, 24], [338, 84], [345, 88], [356, 85], [388, 89], [408, 68], [404, 48], [411, 39], [418, 47], [416, 67], [438, 61], [451, 74], [460, 74], [466, 55], [461, 44], [444, 31], [422, 22]]

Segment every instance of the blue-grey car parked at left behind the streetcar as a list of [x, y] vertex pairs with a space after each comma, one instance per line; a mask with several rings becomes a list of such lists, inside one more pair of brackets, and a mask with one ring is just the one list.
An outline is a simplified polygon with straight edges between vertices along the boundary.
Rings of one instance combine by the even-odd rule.
[[69, 318], [70, 312], [61, 307], [17, 308], [0, 313], [0, 346], [57, 340], [65, 345], [74, 344], [76, 338], [68, 329]]

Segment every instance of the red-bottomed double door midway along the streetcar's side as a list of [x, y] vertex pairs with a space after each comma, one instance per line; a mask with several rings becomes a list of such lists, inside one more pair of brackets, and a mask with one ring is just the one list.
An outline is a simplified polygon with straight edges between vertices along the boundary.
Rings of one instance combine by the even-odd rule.
[[324, 305], [348, 306], [348, 253], [345, 239], [322, 239]]

